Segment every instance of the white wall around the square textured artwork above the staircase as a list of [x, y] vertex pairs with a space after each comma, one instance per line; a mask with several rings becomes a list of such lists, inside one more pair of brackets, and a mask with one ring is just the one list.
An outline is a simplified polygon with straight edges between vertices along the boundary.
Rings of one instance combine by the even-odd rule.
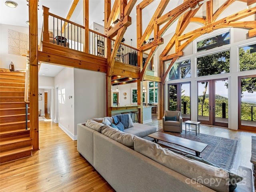
[[28, 27], [0, 24], [0, 68], [10, 68], [13, 62], [14, 70], [26, 68], [27, 57], [8, 54], [8, 29], [28, 34]]

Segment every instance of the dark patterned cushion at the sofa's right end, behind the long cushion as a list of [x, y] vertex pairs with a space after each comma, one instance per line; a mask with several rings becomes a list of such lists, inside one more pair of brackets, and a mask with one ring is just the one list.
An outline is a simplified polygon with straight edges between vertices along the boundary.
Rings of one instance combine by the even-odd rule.
[[[199, 157], [196, 157], [193, 155], [186, 155], [186, 157], [220, 168], [219, 166], [217, 166], [211, 162], [208, 162], [207, 160], [204, 160], [203, 158], [199, 158]], [[225, 169], [223, 169], [223, 170], [225, 170]], [[229, 172], [228, 170], [226, 170], [226, 172], [228, 172], [228, 175], [229, 175], [229, 192], [233, 192], [236, 189], [236, 186], [237, 186], [236, 183], [242, 181], [244, 178], [242, 178], [241, 176], [239, 176], [237, 174]]]

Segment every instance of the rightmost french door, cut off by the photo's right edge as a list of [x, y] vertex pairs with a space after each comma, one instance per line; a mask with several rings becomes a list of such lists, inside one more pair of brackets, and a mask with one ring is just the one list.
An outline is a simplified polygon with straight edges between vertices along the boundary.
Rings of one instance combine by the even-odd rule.
[[238, 129], [256, 131], [256, 75], [238, 77]]

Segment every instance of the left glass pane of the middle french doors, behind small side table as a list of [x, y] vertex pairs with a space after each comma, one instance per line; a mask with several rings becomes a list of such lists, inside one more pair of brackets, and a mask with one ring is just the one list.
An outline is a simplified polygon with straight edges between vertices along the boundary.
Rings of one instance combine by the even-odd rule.
[[[209, 81], [198, 82], [198, 121], [209, 121]], [[206, 123], [206, 124], [209, 124]]]

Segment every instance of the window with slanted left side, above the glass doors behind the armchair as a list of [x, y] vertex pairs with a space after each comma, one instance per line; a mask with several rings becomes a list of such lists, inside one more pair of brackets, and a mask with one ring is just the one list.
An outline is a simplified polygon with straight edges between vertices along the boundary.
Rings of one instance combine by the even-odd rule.
[[[170, 64], [167, 64], [167, 67]], [[169, 80], [191, 78], [190, 59], [173, 64], [169, 72]]]

